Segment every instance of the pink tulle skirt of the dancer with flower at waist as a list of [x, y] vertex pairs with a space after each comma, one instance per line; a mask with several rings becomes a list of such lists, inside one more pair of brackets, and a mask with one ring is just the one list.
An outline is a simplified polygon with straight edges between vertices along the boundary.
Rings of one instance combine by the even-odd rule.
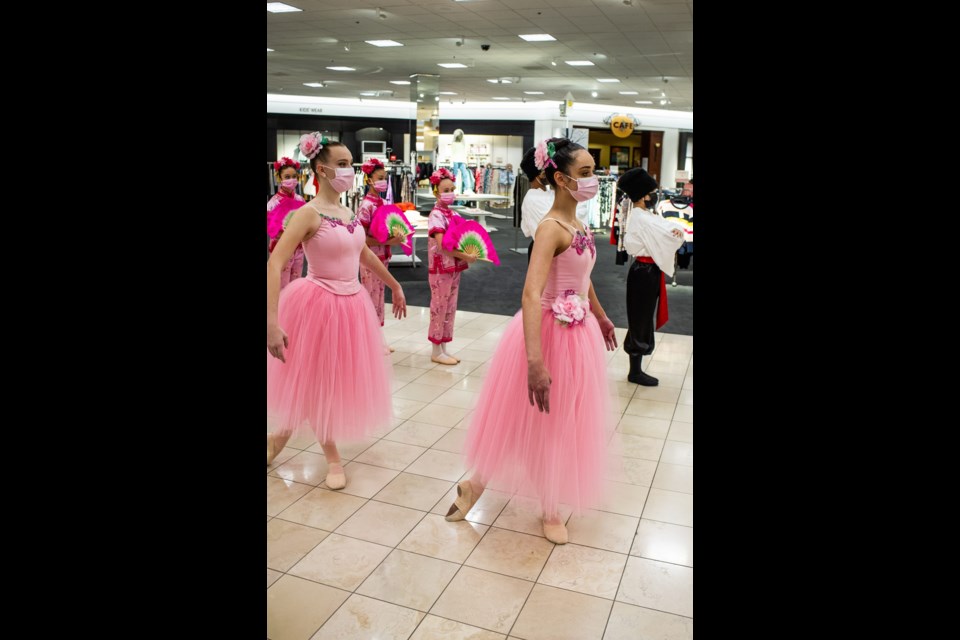
[[541, 349], [550, 373], [550, 413], [527, 395], [523, 311], [507, 325], [491, 361], [464, 451], [491, 489], [539, 498], [544, 510], [576, 512], [600, 498], [606, 443], [613, 429], [603, 335], [594, 316], [582, 326], [541, 318]]

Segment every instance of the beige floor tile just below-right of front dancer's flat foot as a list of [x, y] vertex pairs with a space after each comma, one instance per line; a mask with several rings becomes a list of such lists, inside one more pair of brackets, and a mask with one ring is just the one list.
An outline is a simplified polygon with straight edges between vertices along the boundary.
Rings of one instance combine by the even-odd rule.
[[558, 545], [547, 560], [540, 584], [613, 600], [627, 556], [576, 544]]

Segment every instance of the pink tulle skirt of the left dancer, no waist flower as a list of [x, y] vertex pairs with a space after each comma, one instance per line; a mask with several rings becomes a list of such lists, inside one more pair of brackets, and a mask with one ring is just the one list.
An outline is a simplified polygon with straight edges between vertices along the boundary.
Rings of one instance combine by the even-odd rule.
[[275, 433], [358, 440], [390, 423], [390, 358], [366, 290], [338, 296], [308, 278], [280, 292], [286, 363], [267, 354], [267, 417]]

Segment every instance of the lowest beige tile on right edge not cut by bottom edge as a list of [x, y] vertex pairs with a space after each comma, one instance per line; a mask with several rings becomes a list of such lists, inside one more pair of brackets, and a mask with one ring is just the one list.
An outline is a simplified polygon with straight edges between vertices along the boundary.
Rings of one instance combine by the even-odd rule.
[[693, 569], [630, 556], [617, 601], [693, 617]]

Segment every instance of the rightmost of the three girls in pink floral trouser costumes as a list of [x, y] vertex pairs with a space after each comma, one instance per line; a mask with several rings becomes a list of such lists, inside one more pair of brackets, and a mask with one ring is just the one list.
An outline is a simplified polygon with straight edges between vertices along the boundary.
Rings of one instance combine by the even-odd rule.
[[427, 339], [433, 343], [430, 359], [439, 364], [457, 364], [460, 359], [447, 353], [446, 344], [453, 340], [460, 272], [477, 259], [462, 251], [443, 248], [443, 234], [451, 225], [463, 221], [460, 214], [450, 208], [457, 198], [454, 193], [457, 183], [453, 174], [447, 169], [437, 169], [430, 176], [430, 184], [437, 198], [437, 204], [427, 218], [427, 279], [430, 281], [430, 329]]

